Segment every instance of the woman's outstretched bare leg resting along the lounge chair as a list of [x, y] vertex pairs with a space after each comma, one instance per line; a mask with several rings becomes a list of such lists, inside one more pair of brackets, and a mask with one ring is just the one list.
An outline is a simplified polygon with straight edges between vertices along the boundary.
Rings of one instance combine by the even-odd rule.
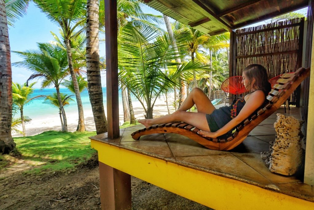
[[194, 127], [197, 127], [203, 131], [210, 131], [206, 120], [206, 114], [201, 112], [189, 112], [177, 110], [170, 115], [165, 115], [154, 119], [139, 120], [145, 127], [149, 127], [155, 124], [162, 124], [175, 121], [184, 121]]

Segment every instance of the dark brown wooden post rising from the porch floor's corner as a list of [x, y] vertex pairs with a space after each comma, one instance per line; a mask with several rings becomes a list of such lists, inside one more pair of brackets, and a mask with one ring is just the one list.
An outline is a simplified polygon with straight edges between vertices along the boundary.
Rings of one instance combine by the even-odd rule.
[[108, 138], [114, 139], [120, 135], [117, 0], [105, 0], [105, 24]]

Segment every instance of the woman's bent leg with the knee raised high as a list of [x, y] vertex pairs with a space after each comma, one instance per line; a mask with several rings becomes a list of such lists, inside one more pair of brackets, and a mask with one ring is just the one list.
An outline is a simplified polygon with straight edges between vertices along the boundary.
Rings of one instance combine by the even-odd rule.
[[203, 90], [194, 88], [188, 94], [178, 110], [187, 111], [191, 109], [194, 104], [196, 105], [198, 112], [205, 114], [211, 114], [216, 109]]

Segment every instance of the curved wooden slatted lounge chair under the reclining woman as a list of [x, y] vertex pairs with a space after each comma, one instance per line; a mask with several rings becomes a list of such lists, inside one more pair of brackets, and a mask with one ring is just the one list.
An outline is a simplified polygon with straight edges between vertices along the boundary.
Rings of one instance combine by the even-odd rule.
[[281, 75], [269, 92], [264, 105], [246, 120], [242, 121], [232, 133], [227, 135], [225, 134], [218, 138], [203, 137], [198, 134], [199, 129], [192, 125], [185, 122], [171, 122], [143, 128], [133, 132], [131, 136], [133, 139], [139, 140], [141, 136], [152, 133], [178, 133], [191, 138], [209, 149], [230, 150], [239, 145], [253, 128], [273, 114], [309, 75], [310, 68], [299, 68], [295, 73]]

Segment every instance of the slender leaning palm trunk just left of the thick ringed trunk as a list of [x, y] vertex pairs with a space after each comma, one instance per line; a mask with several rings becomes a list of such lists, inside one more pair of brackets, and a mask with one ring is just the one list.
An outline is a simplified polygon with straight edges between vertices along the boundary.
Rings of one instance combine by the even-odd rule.
[[83, 111], [83, 105], [82, 105], [82, 100], [81, 100], [81, 94], [79, 92], [78, 88], [78, 80], [76, 78], [74, 68], [73, 68], [73, 63], [72, 63], [72, 52], [71, 52], [71, 44], [70, 40], [65, 38], [64, 43], [67, 48], [67, 56], [68, 56], [68, 65], [70, 69], [70, 74], [73, 80], [73, 85], [74, 85], [74, 91], [75, 91], [75, 97], [76, 97], [76, 102], [78, 105], [78, 128], [76, 131], [85, 131], [85, 123], [84, 123], [84, 111]]

